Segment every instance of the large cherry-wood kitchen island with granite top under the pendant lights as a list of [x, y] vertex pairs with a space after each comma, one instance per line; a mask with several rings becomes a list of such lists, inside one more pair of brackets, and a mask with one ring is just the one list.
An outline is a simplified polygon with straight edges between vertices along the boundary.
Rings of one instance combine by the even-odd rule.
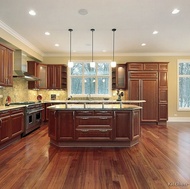
[[58, 147], [137, 144], [141, 133], [141, 107], [117, 101], [103, 102], [80, 101], [48, 107], [50, 143]]

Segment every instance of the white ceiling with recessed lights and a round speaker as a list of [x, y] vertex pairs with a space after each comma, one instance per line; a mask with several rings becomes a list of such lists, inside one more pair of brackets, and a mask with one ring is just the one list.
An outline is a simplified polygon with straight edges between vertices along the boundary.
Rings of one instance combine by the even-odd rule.
[[[174, 8], [180, 10], [176, 15], [171, 14]], [[28, 14], [31, 9], [36, 16]], [[88, 14], [80, 15], [80, 9]], [[117, 29], [115, 56], [190, 55], [189, 20], [190, 0], [0, 0], [1, 26], [10, 27], [44, 56], [69, 54], [69, 28], [73, 56], [92, 52], [91, 28], [95, 29], [94, 56], [112, 54], [112, 28]], [[154, 30], [159, 33], [153, 35]], [[46, 36], [46, 31], [51, 35]]]

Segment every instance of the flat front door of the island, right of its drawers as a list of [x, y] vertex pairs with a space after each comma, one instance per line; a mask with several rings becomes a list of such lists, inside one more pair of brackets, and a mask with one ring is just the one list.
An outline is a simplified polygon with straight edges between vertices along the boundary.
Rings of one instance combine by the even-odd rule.
[[131, 111], [115, 112], [115, 140], [130, 141], [131, 140]]

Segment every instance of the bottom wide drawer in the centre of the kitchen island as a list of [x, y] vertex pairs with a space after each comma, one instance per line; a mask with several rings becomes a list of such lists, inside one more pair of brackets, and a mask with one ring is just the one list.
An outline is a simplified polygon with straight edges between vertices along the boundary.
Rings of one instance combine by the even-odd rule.
[[76, 129], [76, 139], [80, 141], [112, 140], [112, 129]]

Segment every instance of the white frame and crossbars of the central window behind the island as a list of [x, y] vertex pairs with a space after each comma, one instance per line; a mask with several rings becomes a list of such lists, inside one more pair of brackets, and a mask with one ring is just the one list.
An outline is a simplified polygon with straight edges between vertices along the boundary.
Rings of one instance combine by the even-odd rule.
[[[91, 61], [73, 61], [73, 63], [89, 63]], [[111, 67], [111, 64], [110, 64], [110, 60], [98, 60], [95, 62], [95, 64], [98, 64], [98, 63], [108, 63], [109, 64], [109, 74], [108, 76], [105, 76], [105, 75], [97, 75], [97, 70], [95, 71], [96, 72], [96, 75], [93, 76], [93, 75], [89, 75], [89, 77], [95, 77], [96, 78], [96, 81], [98, 80], [98, 78], [100, 78], [101, 76], [102, 77], [107, 77], [109, 79], [109, 86], [108, 86], [108, 94], [90, 94], [90, 96], [93, 98], [96, 98], [96, 97], [106, 97], [106, 98], [110, 98], [112, 96], [112, 67]], [[67, 68], [67, 89], [68, 89], [68, 97], [72, 96], [72, 97], [79, 97], [79, 98], [84, 98], [84, 97], [87, 97], [88, 95], [87, 94], [71, 94], [71, 78], [72, 77], [77, 77], [77, 76], [71, 76], [71, 68]], [[83, 74], [82, 74], [82, 79], [84, 77], [88, 77], [86, 75], [84, 75], [84, 70], [83, 70]], [[84, 82], [82, 82], [82, 88], [84, 88]], [[97, 92], [98, 86], [95, 86], [95, 91]], [[83, 91], [84, 92], [84, 91]]]

